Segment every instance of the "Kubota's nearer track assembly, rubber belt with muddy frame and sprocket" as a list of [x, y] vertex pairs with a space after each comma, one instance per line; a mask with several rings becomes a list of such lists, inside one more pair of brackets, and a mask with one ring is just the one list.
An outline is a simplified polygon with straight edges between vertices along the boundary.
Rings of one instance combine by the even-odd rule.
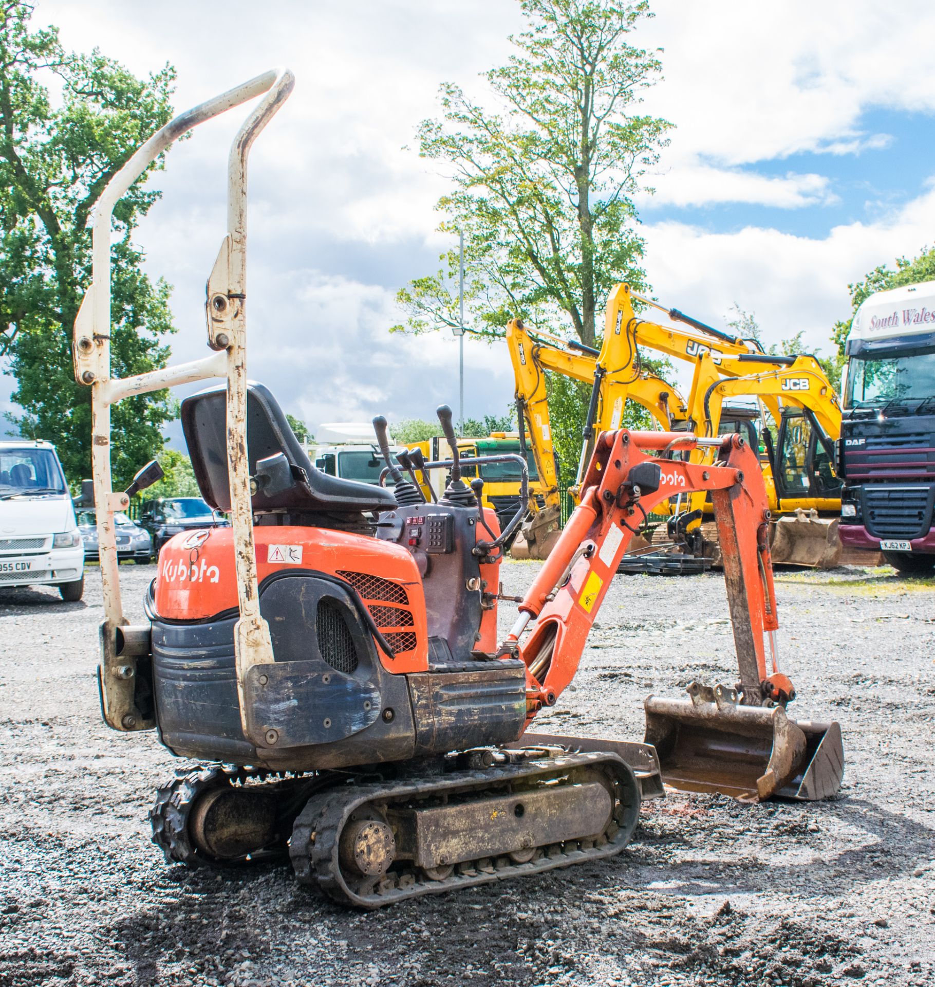
[[512, 750], [484, 770], [331, 788], [312, 797], [289, 853], [300, 881], [342, 904], [404, 898], [540, 873], [619, 853], [640, 807], [615, 754]]

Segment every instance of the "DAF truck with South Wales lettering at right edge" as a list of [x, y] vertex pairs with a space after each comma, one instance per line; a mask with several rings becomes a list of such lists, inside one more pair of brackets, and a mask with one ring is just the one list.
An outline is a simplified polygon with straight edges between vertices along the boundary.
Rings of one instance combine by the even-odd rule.
[[841, 542], [935, 569], [935, 281], [871, 295], [847, 337]]

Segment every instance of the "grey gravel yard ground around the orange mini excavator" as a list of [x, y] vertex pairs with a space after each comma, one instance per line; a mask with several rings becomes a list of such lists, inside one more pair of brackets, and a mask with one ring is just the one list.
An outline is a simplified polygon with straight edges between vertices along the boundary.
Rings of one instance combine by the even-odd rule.
[[[141, 618], [154, 569], [121, 573]], [[285, 864], [167, 867], [146, 811], [179, 762], [100, 720], [98, 570], [81, 604], [0, 592], [0, 987], [935, 984], [935, 587], [839, 569], [777, 592], [794, 715], [843, 729], [840, 797], [675, 793], [611, 861], [366, 914]], [[647, 693], [733, 682], [726, 614], [717, 574], [618, 576], [539, 728], [639, 738]]]

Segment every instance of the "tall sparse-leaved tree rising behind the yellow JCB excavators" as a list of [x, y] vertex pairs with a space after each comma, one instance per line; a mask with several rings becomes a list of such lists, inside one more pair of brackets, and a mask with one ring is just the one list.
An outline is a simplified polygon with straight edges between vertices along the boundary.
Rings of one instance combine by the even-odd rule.
[[[637, 112], [660, 63], [628, 38], [651, 15], [646, 2], [521, 6], [527, 30], [483, 76], [500, 112], [445, 83], [443, 118], [422, 122], [419, 152], [454, 184], [438, 202], [439, 229], [465, 236], [470, 329], [497, 335], [516, 316], [553, 332], [570, 324], [593, 345], [611, 286], [646, 290], [633, 195], [670, 124]], [[407, 321], [396, 331], [460, 324], [458, 251], [440, 260], [399, 291]]]

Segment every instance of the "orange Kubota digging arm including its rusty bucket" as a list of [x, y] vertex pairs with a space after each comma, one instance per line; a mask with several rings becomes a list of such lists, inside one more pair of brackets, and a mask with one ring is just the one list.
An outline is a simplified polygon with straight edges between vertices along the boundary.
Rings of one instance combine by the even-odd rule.
[[[714, 451], [714, 464], [668, 458]], [[661, 455], [653, 455], [659, 453]], [[617, 565], [641, 515], [675, 493], [707, 493], [722, 547], [739, 690], [692, 683], [689, 700], [646, 701], [647, 742], [663, 777], [688, 790], [759, 799], [836, 791], [843, 753], [836, 724], [797, 724], [779, 668], [778, 618], [769, 557], [769, 510], [755, 452], [740, 435], [619, 430], [601, 435], [581, 501], [520, 603], [507, 645], [527, 666], [528, 723], [573, 679]], [[535, 630], [521, 643], [527, 625]]]

